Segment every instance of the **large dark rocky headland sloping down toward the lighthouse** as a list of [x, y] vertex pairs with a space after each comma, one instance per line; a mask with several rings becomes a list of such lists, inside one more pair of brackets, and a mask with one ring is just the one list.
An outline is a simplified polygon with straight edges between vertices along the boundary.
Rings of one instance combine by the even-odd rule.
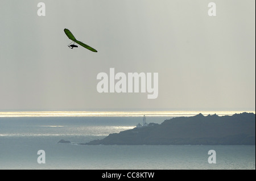
[[81, 145], [255, 145], [255, 114], [174, 117]]

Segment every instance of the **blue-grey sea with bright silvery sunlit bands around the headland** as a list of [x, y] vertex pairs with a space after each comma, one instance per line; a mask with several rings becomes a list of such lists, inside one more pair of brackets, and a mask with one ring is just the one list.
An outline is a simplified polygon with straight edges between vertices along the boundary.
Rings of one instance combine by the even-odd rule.
[[[201, 113], [224, 116], [240, 112]], [[0, 169], [255, 170], [255, 145], [80, 145], [133, 129], [142, 124], [144, 115], [147, 123], [161, 124], [172, 117], [198, 113], [0, 112]], [[70, 142], [58, 143], [60, 140]]]

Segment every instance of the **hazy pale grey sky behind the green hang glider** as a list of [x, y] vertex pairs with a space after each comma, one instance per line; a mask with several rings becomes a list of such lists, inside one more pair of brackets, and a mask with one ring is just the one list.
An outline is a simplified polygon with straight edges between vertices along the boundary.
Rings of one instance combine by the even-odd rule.
[[[253, 0], [1, 0], [0, 24], [1, 111], [255, 110]], [[98, 53], [69, 49], [64, 28]], [[98, 93], [110, 68], [158, 73], [158, 98]]]

